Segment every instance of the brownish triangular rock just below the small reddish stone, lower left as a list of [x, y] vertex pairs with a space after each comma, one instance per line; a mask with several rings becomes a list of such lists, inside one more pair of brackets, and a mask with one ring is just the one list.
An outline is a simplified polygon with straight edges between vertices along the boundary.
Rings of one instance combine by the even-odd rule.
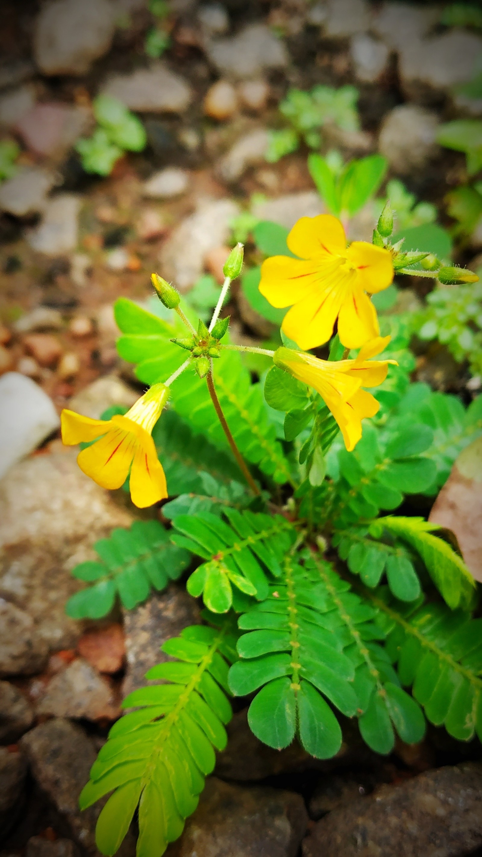
[[54, 675], [37, 704], [39, 715], [116, 720], [121, 711], [109, 682], [82, 657]]

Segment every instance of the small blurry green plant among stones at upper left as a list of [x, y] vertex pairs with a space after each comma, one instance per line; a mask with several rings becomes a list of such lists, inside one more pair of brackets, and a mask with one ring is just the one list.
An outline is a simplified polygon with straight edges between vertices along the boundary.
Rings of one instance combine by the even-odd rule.
[[109, 176], [124, 152], [141, 152], [146, 147], [146, 130], [134, 113], [110, 95], [98, 95], [92, 104], [98, 127], [91, 137], [77, 141], [86, 172]]

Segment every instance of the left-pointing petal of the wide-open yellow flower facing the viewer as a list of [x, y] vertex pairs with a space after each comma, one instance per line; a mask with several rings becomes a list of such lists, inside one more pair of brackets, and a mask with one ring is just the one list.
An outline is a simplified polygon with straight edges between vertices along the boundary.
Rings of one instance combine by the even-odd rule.
[[271, 256], [261, 266], [259, 291], [272, 307], [289, 307], [312, 291], [318, 273], [311, 261]]

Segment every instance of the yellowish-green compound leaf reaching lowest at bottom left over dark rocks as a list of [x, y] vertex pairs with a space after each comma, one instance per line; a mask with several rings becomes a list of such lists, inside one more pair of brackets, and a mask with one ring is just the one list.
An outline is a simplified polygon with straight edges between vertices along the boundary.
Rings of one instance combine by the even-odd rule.
[[86, 809], [112, 793], [96, 829], [102, 854], [116, 853], [139, 806], [138, 857], [161, 857], [198, 804], [214, 749], [226, 746], [227, 675], [235, 659], [230, 623], [185, 628], [161, 648], [176, 660], [153, 667], [146, 679], [163, 684], [124, 699], [123, 708], [136, 710], [110, 729], [80, 794]]

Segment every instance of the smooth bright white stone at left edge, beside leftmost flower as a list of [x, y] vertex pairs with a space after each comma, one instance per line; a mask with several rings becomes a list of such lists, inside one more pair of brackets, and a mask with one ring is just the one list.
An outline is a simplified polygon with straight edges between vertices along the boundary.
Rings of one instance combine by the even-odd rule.
[[0, 477], [60, 425], [52, 400], [26, 375], [0, 378]]

